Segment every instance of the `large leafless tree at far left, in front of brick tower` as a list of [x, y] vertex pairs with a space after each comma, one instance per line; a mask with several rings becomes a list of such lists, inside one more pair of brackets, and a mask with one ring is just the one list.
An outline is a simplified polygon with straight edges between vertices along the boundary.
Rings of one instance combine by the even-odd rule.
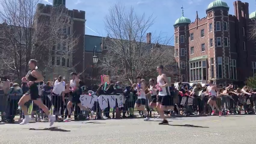
[[72, 57], [78, 38], [68, 33], [72, 19], [66, 7], [45, 8], [38, 0], [2, 0], [1, 5], [1, 70], [20, 79], [32, 58], [41, 71], [52, 72], [50, 55]]

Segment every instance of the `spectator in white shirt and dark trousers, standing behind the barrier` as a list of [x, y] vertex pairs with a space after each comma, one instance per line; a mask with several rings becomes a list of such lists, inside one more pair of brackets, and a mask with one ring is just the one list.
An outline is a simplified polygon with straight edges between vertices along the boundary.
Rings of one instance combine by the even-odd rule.
[[65, 91], [65, 82], [62, 81], [62, 76], [59, 76], [58, 79], [54, 82], [53, 94], [52, 94], [52, 103], [54, 106], [54, 114], [56, 117], [59, 115], [59, 109], [65, 104], [64, 99]]

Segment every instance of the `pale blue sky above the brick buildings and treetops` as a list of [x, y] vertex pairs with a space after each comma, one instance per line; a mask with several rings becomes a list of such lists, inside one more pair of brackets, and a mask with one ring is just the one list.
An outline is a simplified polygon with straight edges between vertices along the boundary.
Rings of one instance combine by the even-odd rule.
[[[42, 0], [44, 4], [52, 0]], [[118, 0], [66, 0], [66, 7], [69, 9], [78, 9], [86, 11], [86, 31], [87, 35], [96, 35], [105, 37], [107, 33], [104, 29], [104, 16], [108, 13], [109, 7]], [[128, 8], [133, 6], [137, 14], [145, 13], [146, 16], [153, 14], [154, 25], [149, 32], [162, 33], [168, 37], [173, 35], [173, 24], [181, 16], [181, 7], [184, 7], [184, 16], [193, 22], [196, 17], [196, 11], [200, 18], [206, 16], [206, 8], [213, 0], [126, 0], [122, 1]], [[224, 0], [230, 7], [229, 13], [234, 14], [233, 1]], [[251, 3], [249, 3], [249, 1]], [[249, 3], [249, 13], [256, 10], [256, 4], [253, 0], [242, 0]]]

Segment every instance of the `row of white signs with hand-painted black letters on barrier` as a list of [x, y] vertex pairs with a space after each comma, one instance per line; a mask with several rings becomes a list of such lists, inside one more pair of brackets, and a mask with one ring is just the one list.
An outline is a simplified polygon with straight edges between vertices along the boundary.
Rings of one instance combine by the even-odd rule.
[[88, 108], [92, 108], [94, 102], [98, 101], [101, 110], [104, 110], [108, 107], [108, 102], [110, 107], [115, 107], [116, 100], [118, 107], [123, 107], [123, 95], [100, 95], [99, 97], [97, 97], [96, 95], [80, 95], [80, 101], [82, 105]]

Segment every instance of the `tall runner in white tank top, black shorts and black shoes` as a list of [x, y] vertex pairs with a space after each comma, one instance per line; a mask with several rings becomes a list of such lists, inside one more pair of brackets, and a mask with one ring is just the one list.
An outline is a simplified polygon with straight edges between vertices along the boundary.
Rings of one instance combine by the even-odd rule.
[[163, 65], [157, 67], [157, 71], [159, 73], [159, 76], [157, 76], [157, 89], [159, 90], [157, 108], [160, 116], [163, 118], [163, 122], [160, 122], [159, 125], [168, 125], [168, 121], [166, 120], [163, 111], [174, 109], [172, 96], [170, 95], [169, 79], [163, 73]]

